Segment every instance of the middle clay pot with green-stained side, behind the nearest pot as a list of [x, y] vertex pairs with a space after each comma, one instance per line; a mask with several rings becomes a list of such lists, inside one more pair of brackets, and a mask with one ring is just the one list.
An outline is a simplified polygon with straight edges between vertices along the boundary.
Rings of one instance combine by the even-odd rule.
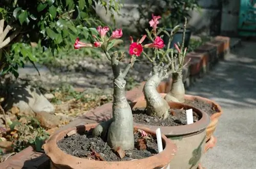
[[[174, 160], [170, 162], [170, 168], [196, 169], [200, 163], [202, 155], [204, 154], [206, 127], [210, 123], [210, 118], [205, 112], [193, 106], [176, 102], [169, 102], [168, 104], [172, 108], [192, 108], [201, 117], [201, 119], [196, 123], [182, 126], [151, 126], [137, 123], [134, 124], [136, 126], [144, 126], [152, 130], [160, 128], [161, 132], [177, 145], [178, 151]], [[144, 96], [137, 98], [131, 104], [133, 109], [137, 107], [144, 108], [145, 106], [146, 101]]]

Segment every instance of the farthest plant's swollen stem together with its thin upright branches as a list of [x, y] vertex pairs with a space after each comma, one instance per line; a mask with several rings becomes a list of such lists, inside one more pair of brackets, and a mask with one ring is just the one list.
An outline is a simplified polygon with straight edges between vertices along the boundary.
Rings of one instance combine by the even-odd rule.
[[182, 69], [189, 62], [188, 61], [186, 64], [184, 64], [186, 48], [184, 50], [183, 48], [184, 48], [184, 40], [185, 40], [185, 33], [186, 33], [186, 24], [187, 24], [187, 19], [185, 18], [182, 45], [179, 48], [178, 45], [175, 44], [175, 48], [177, 49], [178, 54], [176, 54], [174, 57], [174, 54], [172, 52], [170, 57], [172, 60], [171, 69], [173, 70], [173, 73], [172, 73], [173, 81], [172, 81], [172, 88], [164, 98], [167, 102], [170, 102], [170, 101], [184, 102], [185, 101], [184, 99], [185, 87], [184, 87], [183, 78], [182, 78]]

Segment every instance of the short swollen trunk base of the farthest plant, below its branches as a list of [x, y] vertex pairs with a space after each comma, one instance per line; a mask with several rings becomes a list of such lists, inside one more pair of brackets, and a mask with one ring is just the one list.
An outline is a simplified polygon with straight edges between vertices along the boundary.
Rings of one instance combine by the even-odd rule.
[[167, 102], [174, 101], [183, 103], [185, 101], [184, 96], [185, 87], [182, 81], [182, 74], [173, 73], [172, 89], [167, 93], [164, 99]]

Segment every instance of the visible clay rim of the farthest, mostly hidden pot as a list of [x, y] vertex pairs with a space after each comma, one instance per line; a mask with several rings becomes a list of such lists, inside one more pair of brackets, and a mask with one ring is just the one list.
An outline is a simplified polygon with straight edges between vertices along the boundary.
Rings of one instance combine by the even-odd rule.
[[215, 118], [218, 118], [218, 117], [220, 117], [223, 114], [223, 111], [222, 111], [222, 108], [221, 108], [220, 104], [218, 104], [214, 100], [210, 100], [210, 99], [207, 99], [205, 97], [194, 96], [194, 95], [185, 95], [185, 99], [187, 99], [187, 100], [198, 99], [198, 100], [202, 100], [202, 101], [205, 101], [207, 103], [210, 103], [210, 104], [214, 104], [219, 111], [215, 112], [214, 114], [212, 114], [210, 116], [211, 120], [215, 119]]

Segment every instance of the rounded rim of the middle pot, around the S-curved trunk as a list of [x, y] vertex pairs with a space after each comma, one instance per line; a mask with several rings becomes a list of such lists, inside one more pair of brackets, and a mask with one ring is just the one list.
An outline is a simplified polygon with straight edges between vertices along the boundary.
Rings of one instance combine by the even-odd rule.
[[[161, 96], [165, 96], [166, 93], [160, 93]], [[137, 98], [134, 102], [136, 101], [141, 101], [142, 97]], [[197, 132], [200, 132], [202, 130], [205, 130], [207, 126], [210, 124], [210, 118], [206, 114], [206, 112], [190, 105], [186, 105], [183, 103], [178, 103], [178, 102], [168, 102], [170, 107], [183, 107], [185, 109], [190, 109], [192, 108], [193, 111], [195, 111], [199, 116], [201, 116], [201, 119], [193, 124], [188, 124], [188, 125], [181, 125], [181, 126], [153, 126], [153, 125], [146, 125], [146, 124], [139, 124], [135, 123], [137, 126], [145, 126], [146, 128], [150, 128], [152, 130], [156, 130], [157, 128], [161, 129], [161, 132], [166, 135], [166, 136], [182, 136], [182, 135], [190, 135], [194, 134]]]

